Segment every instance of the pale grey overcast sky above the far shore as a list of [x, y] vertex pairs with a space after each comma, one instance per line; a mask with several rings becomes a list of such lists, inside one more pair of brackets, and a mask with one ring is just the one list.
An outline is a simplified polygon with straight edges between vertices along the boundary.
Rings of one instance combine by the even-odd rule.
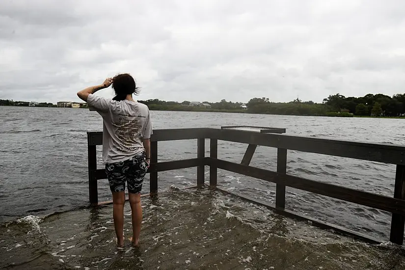
[[0, 99], [79, 101], [118, 73], [142, 100], [392, 96], [404, 14], [404, 0], [0, 0]]

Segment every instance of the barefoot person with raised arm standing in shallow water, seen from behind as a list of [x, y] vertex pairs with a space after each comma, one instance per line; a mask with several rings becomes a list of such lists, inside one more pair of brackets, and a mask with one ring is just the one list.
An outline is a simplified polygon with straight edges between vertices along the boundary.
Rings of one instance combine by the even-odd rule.
[[[94, 95], [110, 85], [116, 95], [113, 99]], [[124, 245], [125, 183], [128, 185], [132, 210], [133, 237], [130, 240], [134, 246], [138, 246], [142, 223], [140, 191], [150, 164], [150, 112], [146, 105], [133, 99], [133, 94], [138, 95], [139, 89], [129, 74], [107, 78], [103, 84], [78, 92], [79, 98], [87, 102], [89, 109], [103, 117], [103, 160], [112, 192], [112, 215], [120, 247]]]

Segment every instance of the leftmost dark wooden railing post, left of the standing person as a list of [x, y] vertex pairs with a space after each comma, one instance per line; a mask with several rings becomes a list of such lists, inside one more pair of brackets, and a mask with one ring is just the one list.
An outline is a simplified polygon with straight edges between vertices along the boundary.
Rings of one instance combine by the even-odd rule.
[[88, 162], [88, 197], [92, 205], [98, 203], [98, 189], [95, 171], [97, 170], [97, 148], [90, 145], [90, 136], [87, 135], [87, 162]]

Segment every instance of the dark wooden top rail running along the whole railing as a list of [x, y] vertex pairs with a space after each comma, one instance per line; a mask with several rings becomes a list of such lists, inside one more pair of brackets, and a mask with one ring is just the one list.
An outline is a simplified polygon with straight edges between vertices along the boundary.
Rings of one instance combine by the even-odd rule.
[[[89, 132], [87, 134], [90, 146], [103, 144], [102, 132]], [[197, 139], [202, 137], [357, 160], [399, 165], [405, 164], [405, 146], [312, 138], [285, 134], [254, 133], [240, 130], [210, 128], [169, 129], [154, 130], [153, 135], [151, 136], [151, 141]]]

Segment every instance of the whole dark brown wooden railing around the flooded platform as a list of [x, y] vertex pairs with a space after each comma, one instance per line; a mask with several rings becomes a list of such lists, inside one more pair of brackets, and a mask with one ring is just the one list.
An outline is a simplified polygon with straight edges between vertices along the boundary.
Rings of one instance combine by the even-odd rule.
[[[216, 188], [218, 168], [275, 183], [275, 207], [251, 198], [247, 198], [246, 196], [240, 197], [267, 207], [271, 207], [279, 214], [311, 220], [314, 225], [331, 228], [366, 241], [379, 243], [378, 240], [375, 240], [370, 236], [353, 232], [347, 228], [313, 219], [311, 217], [302, 216], [293, 211], [286, 210], [286, 186], [390, 212], [392, 213], [390, 241], [397, 244], [403, 244], [405, 227], [404, 146], [301, 137], [267, 132], [284, 133], [285, 129], [276, 129], [273, 131], [267, 130], [262, 133], [229, 129], [229, 127], [224, 129], [200, 128], [154, 130], [151, 137], [152, 160], [149, 168], [150, 194], [154, 195], [158, 192], [158, 172], [197, 167], [197, 186], [202, 187], [205, 185], [205, 166], [210, 166], [209, 181], [210, 187], [212, 188]], [[107, 178], [104, 169], [97, 169], [96, 146], [102, 145], [102, 137], [102, 132], [87, 133], [89, 200], [92, 205], [98, 204], [97, 181]], [[158, 141], [184, 139], [197, 139], [197, 158], [170, 162], [158, 162]], [[205, 157], [205, 139], [210, 139], [210, 157]], [[249, 144], [242, 163], [238, 164], [235, 162], [219, 160], [217, 158], [218, 140]], [[250, 160], [252, 159], [257, 145], [277, 148], [276, 172], [249, 166]], [[388, 197], [367, 191], [345, 188], [333, 184], [288, 175], [286, 174], [288, 150], [396, 164], [394, 196]]]

